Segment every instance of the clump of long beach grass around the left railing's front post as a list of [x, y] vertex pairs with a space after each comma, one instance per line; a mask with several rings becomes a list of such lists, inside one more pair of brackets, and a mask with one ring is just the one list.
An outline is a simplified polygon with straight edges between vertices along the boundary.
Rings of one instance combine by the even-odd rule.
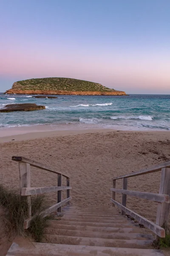
[[28, 230], [23, 229], [23, 222], [28, 218], [28, 203], [25, 196], [20, 196], [18, 189], [0, 184], [0, 206], [5, 209], [6, 219], [11, 230], [20, 236], [31, 235], [36, 242], [42, 241], [48, 220], [54, 219], [52, 215], [43, 218], [41, 214], [47, 208], [45, 194], [31, 196], [31, 212], [35, 217]]

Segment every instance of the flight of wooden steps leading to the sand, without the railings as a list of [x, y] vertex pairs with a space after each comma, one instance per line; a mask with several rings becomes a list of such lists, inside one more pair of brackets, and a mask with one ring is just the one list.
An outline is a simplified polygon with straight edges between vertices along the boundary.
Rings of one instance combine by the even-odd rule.
[[13, 243], [7, 256], [163, 256], [150, 249], [153, 236], [115, 208], [67, 206], [63, 213], [49, 221], [43, 243]]

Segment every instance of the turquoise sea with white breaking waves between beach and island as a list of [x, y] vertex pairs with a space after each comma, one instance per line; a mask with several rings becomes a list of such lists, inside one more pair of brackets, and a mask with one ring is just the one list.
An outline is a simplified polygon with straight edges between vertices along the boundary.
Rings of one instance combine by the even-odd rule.
[[[54, 96], [54, 95], [53, 95]], [[45, 110], [0, 113], [0, 128], [74, 124], [77, 128], [170, 131], [170, 95], [80, 96], [57, 99], [0, 93], [0, 108], [7, 104], [36, 103]], [[64, 126], [63, 126], [64, 127]]]

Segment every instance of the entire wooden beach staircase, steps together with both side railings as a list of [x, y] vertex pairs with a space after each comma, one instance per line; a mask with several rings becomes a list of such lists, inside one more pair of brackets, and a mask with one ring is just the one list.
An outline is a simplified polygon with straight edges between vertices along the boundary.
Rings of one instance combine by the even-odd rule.
[[[170, 161], [151, 166], [147, 169], [112, 179], [112, 208], [75, 207], [70, 205], [70, 177], [61, 172], [35, 162], [34, 160], [13, 156], [19, 163], [20, 195], [27, 197], [28, 218], [23, 228], [28, 229], [35, 217], [31, 213], [31, 196], [42, 193], [57, 192], [57, 202], [41, 214], [45, 217], [58, 212], [62, 217], [49, 221], [42, 243], [13, 243], [6, 256], [163, 256], [160, 250], [152, 247], [153, 236], [146, 232], [151, 230], [157, 237], [164, 238], [170, 212]], [[57, 186], [31, 187], [30, 166], [52, 172], [57, 175]], [[127, 190], [127, 178], [161, 172], [159, 194]], [[62, 178], [66, 179], [63, 186]], [[116, 180], [122, 179], [122, 189], [116, 189]], [[66, 198], [62, 199], [62, 192]], [[122, 204], [116, 201], [116, 193], [122, 194]], [[126, 196], [135, 196], [158, 203], [156, 223], [126, 207]], [[67, 204], [67, 206], [65, 206]], [[121, 210], [121, 214], [118, 209]], [[130, 215], [136, 222], [127, 218]]]

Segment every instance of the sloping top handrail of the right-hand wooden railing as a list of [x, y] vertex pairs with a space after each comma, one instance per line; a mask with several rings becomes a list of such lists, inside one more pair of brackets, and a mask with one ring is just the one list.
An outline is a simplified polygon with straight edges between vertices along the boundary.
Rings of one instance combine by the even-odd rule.
[[170, 167], [170, 161], [161, 163], [159, 165], [151, 166], [146, 169], [142, 169], [138, 172], [131, 172], [126, 175], [118, 176], [118, 177], [113, 178], [112, 180], [119, 180], [119, 179], [126, 178], [126, 177], [134, 177], [134, 176], [139, 176], [139, 175], [143, 175], [143, 174], [147, 174], [147, 173], [159, 172], [159, 171], [161, 171], [162, 168], [165, 168], [165, 167]]

